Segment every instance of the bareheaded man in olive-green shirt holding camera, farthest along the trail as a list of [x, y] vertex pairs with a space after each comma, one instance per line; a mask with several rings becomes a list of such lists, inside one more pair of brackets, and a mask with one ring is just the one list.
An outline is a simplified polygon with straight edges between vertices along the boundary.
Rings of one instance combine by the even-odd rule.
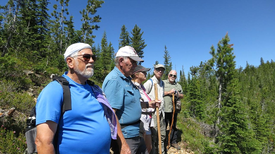
[[[175, 80], [177, 78], [177, 72], [175, 70], [171, 70], [168, 74], [168, 79], [164, 80], [164, 121], [165, 121], [165, 128], [167, 129], [168, 123], [169, 126], [172, 124], [172, 116], [173, 116], [173, 102], [172, 96], [176, 97], [176, 94], [179, 94], [179, 98], [183, 98], [182, 86], [178, 84]], [[180, 150], [180, 146], [177, 145], [177, 115], [178, 113], [174, 114], [174, 122], [172, 125], [172, 131], [170, 135], [170, 142], [171, 146]], [[168, 135], [168, 134], [166, 134]]]

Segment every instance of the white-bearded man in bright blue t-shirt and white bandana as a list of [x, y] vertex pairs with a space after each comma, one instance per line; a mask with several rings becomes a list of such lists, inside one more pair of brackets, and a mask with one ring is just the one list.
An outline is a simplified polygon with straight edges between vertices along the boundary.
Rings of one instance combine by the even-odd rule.
[[[85, 43], [72, 44], [64, 59], [68, 72], [62, 76], [69, 81], [72, 109], [61, 114], [63, 89], [57, 81], [42, 90], [36, 104], [37, 152], [109, 154], [111, 138], [116, 139], [116, 119], [101, 89], [87, 84], [94, 74], [96, 60], [92, 47]], [[58, 139], [54, 146], [56, 133]]]

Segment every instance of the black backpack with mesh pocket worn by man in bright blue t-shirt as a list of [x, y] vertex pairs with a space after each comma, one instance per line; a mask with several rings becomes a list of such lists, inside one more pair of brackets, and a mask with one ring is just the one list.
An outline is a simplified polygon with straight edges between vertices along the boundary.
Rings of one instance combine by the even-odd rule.
[[[69, 81], [63, 76], [55, 76], [53, 81], [57, 81], [61, 84], [63, 88], [63, 103], [61, 106], [61, 115], [65, 113], [66, 110], [72, 109], [72, 102], [71, 102], [71, 92], [69, 88]], [[61, 116], [60, 116], [61, 117]], [[27, 142], [27, 149], [25, 150], [26, 154], [33, 154], [37, 153], [37, 148], [35, 145], [35, 138], [36, 138], [36, 111], [35, 106], [31, 109], [30, 116], [27, 118], [27, 127], [26, 127], [26, 142]], [[58, 132], [58, 131], [56, 131]], [[57, 133], [54, 136], [54, 144], [57, 144]], [[24, 153], [24, 154], [25, 154]]]

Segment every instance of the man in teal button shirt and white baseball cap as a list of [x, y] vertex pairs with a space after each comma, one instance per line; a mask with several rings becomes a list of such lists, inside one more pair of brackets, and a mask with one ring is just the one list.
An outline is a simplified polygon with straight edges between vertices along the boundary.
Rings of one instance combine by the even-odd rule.
[[[159, 100], [140, 102], [141, 95], [130, 77], [137, 66], [137, 61], [144, 62], [133, 47], [120, 48], [116, 53], [116, 66], [106, 76], [102, 85], [102, 90], [116, 113], [117, 122], [121, 125], [117, 128], [117, 144], [114, 142], [112, 145], [114, 154], [119, 151], [132, 154], [148, 153], [139, 133], [141, 108], [159, 107], [161, 102]], [[131, 151], [128, 151], [129, 147]]]

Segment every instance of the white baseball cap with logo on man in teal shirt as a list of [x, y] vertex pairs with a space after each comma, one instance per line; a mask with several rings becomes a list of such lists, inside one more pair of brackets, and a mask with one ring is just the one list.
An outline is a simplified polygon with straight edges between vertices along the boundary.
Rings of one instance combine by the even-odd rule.
[[133, 47], [125, 46], [119, 49], [116, 54], [116, 57], [129, 57], [134, 61], [144, 62], [143, 59], [139, 58], [136, 50]]

